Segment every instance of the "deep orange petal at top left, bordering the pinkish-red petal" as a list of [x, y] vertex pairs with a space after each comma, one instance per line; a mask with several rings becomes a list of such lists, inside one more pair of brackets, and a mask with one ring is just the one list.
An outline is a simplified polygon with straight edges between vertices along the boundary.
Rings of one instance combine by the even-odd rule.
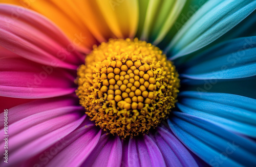
[[[27, 0], [1, 0], [2, 3], [18, 5], [24, 9], [34, 10], [48, 19], [52, 20], [57, 26], [65, 32], [71, 41], [75, 41], [76, 47], [81, 51], [90, 51], [96, 39], [91, 34], [87, 26], [83, 24], [81, 17], [83, 12], [71, 1], [27, 1]], [[67, 9], [67, 7], [69, 7]], [[87, 6], [90, 8], [90, 6]], [[87, 9], [83, 9], [87, 10]], [[20, 10], [15, 10], [19, 14]], [[79, 38], [82, 37], [82, 38]], [[67, 47], [67, 46], [66, 46]]]

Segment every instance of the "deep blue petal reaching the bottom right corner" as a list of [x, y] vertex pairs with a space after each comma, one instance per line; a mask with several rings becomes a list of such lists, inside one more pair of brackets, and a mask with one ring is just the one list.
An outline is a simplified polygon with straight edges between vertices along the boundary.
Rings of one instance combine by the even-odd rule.
[[168, 124], [179, 140], [212, 166], [256, 166], [256, 144], [189, 114], [173, 112]]

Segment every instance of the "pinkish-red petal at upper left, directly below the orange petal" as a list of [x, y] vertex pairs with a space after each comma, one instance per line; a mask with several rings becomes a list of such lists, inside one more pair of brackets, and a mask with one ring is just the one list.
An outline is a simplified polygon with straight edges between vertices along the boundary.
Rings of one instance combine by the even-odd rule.
[[76, 69], [83, 61], [75, 44], [50, 20], [31, 10], [2, 4], [0, 22], [0, 46], [21, 57], [69, 69]]

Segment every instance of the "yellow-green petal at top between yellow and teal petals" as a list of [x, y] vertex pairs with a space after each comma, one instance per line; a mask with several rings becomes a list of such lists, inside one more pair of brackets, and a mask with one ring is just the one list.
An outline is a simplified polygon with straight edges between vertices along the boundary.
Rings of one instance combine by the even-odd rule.
[[145, 20], [143, 21], [144, 25], [140, 27], [140, 29], [143, 28], [141, 39], [153, 41], [154, 45], [161, 42], [176, 21], [185, 2], [185, 0], [150, 1], [148, 4], [140, 2], [140, 8], [143, 11], [147, 7], [146, 11], [144, 11], [144, 18], [140, 18]]

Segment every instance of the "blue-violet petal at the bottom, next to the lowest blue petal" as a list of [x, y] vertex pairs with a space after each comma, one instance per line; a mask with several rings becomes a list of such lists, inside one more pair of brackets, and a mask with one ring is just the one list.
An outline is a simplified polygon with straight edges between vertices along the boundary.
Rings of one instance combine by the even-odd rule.
[[157, 127], [150, 137], [160, 149], [166, 166], [198, 166], [188, 149], [169, 129]]

